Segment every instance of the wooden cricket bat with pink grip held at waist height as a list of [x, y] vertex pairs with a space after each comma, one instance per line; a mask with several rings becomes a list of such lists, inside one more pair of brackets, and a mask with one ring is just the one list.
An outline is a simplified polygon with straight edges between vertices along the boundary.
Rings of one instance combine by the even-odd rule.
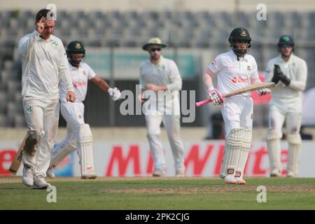
[[[271, 88], [276, 87], [276, 84], [275, 83], [256, 83], [256, 84], [253, 84], [253, 85], [248, 85], [246, 87], [240, 88], [239, 90], [235, 90], [235, 91], [223, 94], [223, 98], [232, 97], [232, 96], [235, 96], [235, 95], [242, 94], [244, 92], [251, 92], [251, 91], [259, 90], [262, 87], [267, 87], [267, 88], [271, 89]], [[209, 104], [210, 102], [212, 102], [211, 99], [205, 99], [205, 100], [203, 100], [201, 102], [197, 102], [196, 106], [200, 107], [200, 106], [202, 106], [204, 104]]]

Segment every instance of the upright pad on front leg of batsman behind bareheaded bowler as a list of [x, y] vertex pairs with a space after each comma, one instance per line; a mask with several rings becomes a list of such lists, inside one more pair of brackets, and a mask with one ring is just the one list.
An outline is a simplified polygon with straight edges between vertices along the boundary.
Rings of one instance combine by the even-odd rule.
[[84, 124], [80, 126], [79, 144], [81, 176], [93, 174], [94, 173], [93, 141], [90, 125]]

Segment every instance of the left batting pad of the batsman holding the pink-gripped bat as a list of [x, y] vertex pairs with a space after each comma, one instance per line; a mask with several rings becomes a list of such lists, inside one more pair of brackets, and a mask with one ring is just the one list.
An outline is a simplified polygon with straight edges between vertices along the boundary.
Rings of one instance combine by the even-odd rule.
[[220, 176], [235, 174], [245, 130], [242, 127], [232, 129], [225, 139], [224, 158]]

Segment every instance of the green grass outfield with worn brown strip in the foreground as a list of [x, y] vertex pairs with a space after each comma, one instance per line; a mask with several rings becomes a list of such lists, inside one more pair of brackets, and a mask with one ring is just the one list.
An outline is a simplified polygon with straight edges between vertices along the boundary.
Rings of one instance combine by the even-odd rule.
[[[1, 209], [315, 209], [315, 179], [247, 178], [231, 186], [211, 178], [47, 179], [57, 189], [48, 203], [46, 190], [32, 190], [21, 177], [0, 177]], [[258, 186], [267, 202], [258, 203]]]

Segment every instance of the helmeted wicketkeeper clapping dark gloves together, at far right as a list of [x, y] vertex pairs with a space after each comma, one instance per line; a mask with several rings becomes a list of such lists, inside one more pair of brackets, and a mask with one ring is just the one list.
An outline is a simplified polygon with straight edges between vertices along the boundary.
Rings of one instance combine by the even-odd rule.
[[281, 36], [278, 43], [280, 55], [267, 63], [266, 77], [276, 83], [269, 102], [269, 131], [267, 148], [271, 167], [270, 176], [281, 176], [282, 126], [286, 120], [288, 130], [288, 164], [286, 176], [298, 173], [302, 140], [300, 127], [302, 119], [302, 91], [307, 81], [307, 64], [293, 54], [294, 41], [289, 35]]

